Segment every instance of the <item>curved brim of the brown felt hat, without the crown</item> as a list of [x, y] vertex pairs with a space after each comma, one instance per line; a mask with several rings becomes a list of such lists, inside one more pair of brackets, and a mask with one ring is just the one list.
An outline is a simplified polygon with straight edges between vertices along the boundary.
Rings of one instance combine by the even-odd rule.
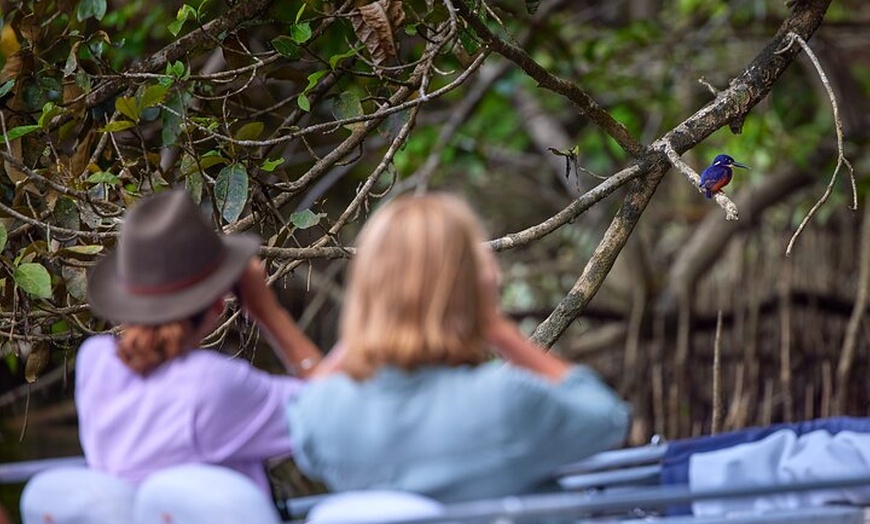
[[260, 239], [238, 234], [221, 237], [226, 252], [206, 278], [167, 294], [134, 294], [118, 275], [117, 251], [103, 257], [88, 276], [88, 302], [98, 316], [116, 324], [155, 325], [182, 320], [205, 310], [230, 290], [256, 255]]

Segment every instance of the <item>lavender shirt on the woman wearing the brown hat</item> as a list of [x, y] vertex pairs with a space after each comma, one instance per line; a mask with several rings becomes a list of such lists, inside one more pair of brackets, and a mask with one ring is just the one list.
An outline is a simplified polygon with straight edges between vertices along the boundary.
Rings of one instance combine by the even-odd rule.
[[88, 465], [133, 483], [184, 463], [219, 464], [269, 492], [263, 461], [291, 452], [284, 410], [303, 382], [193, 350], [142, 377], [89, 338], [76, 358], [79, 438]]

